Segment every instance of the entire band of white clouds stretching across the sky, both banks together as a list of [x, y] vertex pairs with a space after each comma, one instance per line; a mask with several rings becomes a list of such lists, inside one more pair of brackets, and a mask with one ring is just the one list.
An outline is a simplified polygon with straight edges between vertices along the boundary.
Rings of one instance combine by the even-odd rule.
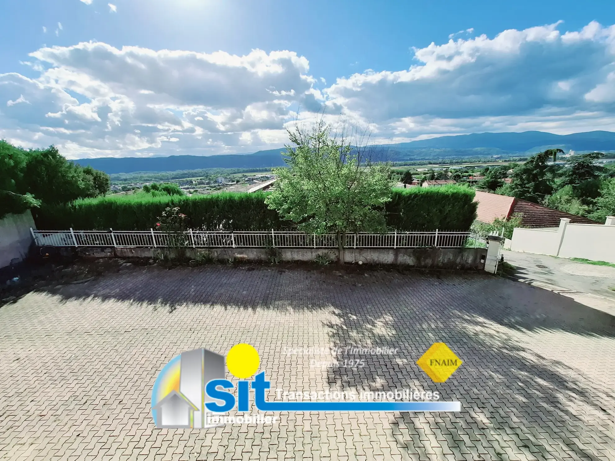
[[[292, 51], [42, 47], [28, 78], [0, 74], [0, 138], [67, 156], [218, 154], [278, 147], [285, 125], [339, 115], [373, 142], [434, 135], [613, 130], [615, 26], [559, 23], [415, 49], [408, 69], [324, 79]], [[58, 24], [58, 31], [59, 31]], [[473, 30], [461, 31], [472, 34]], [[464, 35], [467, 37], [467, 35]]]

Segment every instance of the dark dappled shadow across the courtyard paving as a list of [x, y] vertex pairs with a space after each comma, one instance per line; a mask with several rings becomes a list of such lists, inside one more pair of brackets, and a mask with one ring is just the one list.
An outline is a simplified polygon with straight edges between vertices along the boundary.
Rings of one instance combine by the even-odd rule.
[[[598, 460], [606, 459], [609, 449], [613, 454], [612, 390], [519, 340], [537, 333], [613, 339], [615, 318], [608, 313], [485, 274], [251, 267], [137, 267], [46, 291], [64, 299], [148, 303], [169, 315], [181, 315], [181, 307], [190, 304], [332, 309], [339, 321], [325, 325], [331, 345], [391, 347], [400, 353], [362, 357], [361, 369], [331, 368], [331, 385], [438, 390], [444, 400], [461, 401], [459, 414], [389, 418], [388, 436], [410, 459]], [[415, 364], [438, 341], [464, 360], [440, 384]], [[607, 352], [592, 351], [610, 360]], [[344, 358], [357, 357], [338, 360]]]

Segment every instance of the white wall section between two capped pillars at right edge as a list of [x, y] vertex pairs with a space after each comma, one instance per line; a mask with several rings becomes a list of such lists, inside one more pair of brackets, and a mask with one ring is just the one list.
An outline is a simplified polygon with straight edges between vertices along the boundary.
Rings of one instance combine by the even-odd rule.
[[615, 226], [568, 224], [558, 256], [615, 264]]

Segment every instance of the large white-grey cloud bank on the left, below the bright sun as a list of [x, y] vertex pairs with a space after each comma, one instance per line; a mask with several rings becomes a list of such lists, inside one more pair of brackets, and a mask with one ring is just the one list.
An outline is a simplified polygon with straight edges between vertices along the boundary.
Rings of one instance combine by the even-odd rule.
[[268, 132], [284, 130], [290, 106], [314, 83], [308, 60], [288, 51], [236, 56], [90, 42], [31, 56], [38, 78], [0, 74], [0, 98], [23, 94], [32, 103], [0, 114], [0, 136], [18, 132], [23, 144], [38, 136], [77, 157], [266, 148]]

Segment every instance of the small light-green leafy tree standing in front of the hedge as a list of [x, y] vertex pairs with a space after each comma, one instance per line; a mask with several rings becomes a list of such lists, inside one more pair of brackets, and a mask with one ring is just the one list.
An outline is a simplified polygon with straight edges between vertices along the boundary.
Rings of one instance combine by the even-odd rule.
[[[306, 130], [288, 130], [288, 168], [277, 168], [276, 189], [266, 203], [310, 234], [338, 235], [339, 264], [346, 232], [384, 232], [384, 204], [391, 200], [390, 167], [371, 164], [365, 149], [331, 137], [322, 120]], [[359, 143], [355, 143], [359, 144]]]

